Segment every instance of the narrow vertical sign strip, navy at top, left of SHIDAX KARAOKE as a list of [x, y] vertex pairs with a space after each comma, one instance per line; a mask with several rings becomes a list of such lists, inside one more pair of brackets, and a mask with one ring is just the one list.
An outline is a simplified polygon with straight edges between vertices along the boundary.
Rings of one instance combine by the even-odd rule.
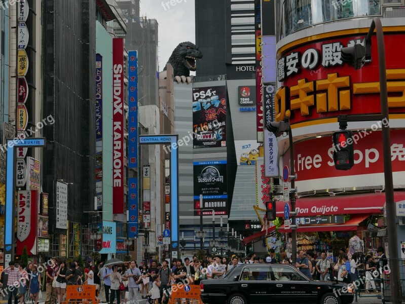
[[96, 197], [97, 210], [102, 209], [102, 166], [103, 166], [103, 81], [102, 81], [102, 56], [96, 54]]

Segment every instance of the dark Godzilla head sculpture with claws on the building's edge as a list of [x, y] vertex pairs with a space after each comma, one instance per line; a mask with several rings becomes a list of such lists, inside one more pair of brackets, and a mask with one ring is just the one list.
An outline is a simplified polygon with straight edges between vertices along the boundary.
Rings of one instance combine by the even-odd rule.
[[[196, 71], [196, 60], [202, 58], [201, 51], [190, 41], [180, 43], [171, 54], [169, 61], [173, 67], [174, 79], [177, 82], [191, 82], [190, 71]], [[164, 68], [166, 70], [166, 67]]]

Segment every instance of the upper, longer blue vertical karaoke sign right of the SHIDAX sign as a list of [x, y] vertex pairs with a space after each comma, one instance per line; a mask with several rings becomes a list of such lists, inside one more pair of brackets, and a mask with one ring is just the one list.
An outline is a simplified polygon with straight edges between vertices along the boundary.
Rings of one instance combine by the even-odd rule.
[[128, 168], [138, 168], [138, 53], [128, 52]]

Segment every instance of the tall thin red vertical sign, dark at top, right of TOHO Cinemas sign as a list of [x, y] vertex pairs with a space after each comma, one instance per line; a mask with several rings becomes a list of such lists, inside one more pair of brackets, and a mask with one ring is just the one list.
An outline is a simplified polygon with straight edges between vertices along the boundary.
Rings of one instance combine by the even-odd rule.
[[257, 142], [263, 142], [262, 102], [262, 13], [261, 0], [254, 0], [254, 33], [256, 48], [256, 132]]

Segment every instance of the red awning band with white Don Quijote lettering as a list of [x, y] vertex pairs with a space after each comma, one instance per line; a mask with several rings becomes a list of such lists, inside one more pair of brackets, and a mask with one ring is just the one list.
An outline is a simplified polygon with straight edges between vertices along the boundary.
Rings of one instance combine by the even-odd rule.
[[[394, 192], [394, 201], [405, 200], [405, 192]], [[332, 197], [302, 198], [296, 201], [297, 216], [382, 213], [385, 193], [338, 194]], [[277, 216], [284, 216], [284, 203], [277, 203]]]

